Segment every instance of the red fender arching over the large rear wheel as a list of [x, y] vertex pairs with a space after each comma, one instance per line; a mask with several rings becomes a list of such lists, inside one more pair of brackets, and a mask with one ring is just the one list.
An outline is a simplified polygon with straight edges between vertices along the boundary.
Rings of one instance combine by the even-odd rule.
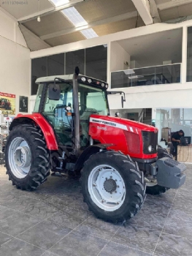
[[34, 113], [31, 115], [18, 115], [18, 117], [13, 119], [9, 130], [12, 130], [13, 127], [16, 127], [20, 124], [32, 124], [34, 126], [38, 126], [45, 136], [47, 148], [49, 150], [58, 150], [58, 143], [55, 138], [55, 132], [41, 114]]

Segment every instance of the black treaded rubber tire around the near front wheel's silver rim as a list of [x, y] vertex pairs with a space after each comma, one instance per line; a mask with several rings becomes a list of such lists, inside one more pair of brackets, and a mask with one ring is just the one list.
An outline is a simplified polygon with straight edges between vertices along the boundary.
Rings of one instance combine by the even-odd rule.
[[[126, 158], [126, 159], [125, 159]], [[118, 210], [113, 215], [107, 215], [104, 213], [104, 210], [101, 213], [101, 209], [96, 206], [93, 201], [91, 201], [91, 197], [89, 195], [88, 190], [85, 189], [85, 184], [88, 180], [88, 172], [91, 171], [89, 167], [93, 165], [93, 163], [97, 163], [98, 159], [102, 161], [106, 161], [107, 159], [110, 162], [115, 163], [115, 166], [118, 166], [119, 169], [123, 170], [123, 173], [126, 172], [126, 176], [128, 178], [128, 182], [130, 184], [130, 200], [128, 201], [128, 205], [123, 208], [123, 212], [118, 216]], [[106, 160], [105, 160], [106, 159]], [[108, 161], [108, 162], [109, 162]], [[108, 164], [106, 164], [108, 165]], [[131, 171], [132, 170], [132, 171]], [[84, 167], [82, 168], [82, 177], [81, 177], [81, 185], [82, 185], [82, 195], [85, 203], [88, 204], [88, 208], [96, 217], [100, 219], [104, 219], [107, 222], [124, 222], [131, 217], [134, 217], [140, 210], [142, 204], [145, 200], [145, 181], [142, 178], [142, 172], [138, 170], [137, 165], [129, 159], [128, 156], [117, 153], [116, 151], [104, 151], [98, 152], [96, 154], [91, 155], [89, 159], [84, 163]], [[99, 208], [99, 211], [97, 208]], [[121, 206], [122, 208], [122, 206]]]

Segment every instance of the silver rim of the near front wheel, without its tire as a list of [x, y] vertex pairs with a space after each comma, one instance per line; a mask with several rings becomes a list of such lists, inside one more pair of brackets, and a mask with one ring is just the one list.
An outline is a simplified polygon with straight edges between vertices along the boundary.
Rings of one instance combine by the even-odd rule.
[[120, 173], [110, 165], [99, 165], [88, 177], [91, 199], [104, 211], [115, 211], [123, 205], [126, 186]]

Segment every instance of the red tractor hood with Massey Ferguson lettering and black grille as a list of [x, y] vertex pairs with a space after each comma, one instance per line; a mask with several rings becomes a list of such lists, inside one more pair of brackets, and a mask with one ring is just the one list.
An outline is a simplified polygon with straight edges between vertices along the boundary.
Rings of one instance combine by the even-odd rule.
[[[100, 143], [112, 144], [109, 149], [122, 151], [134, 158], [152, 159], [157, 157], [158, 129], [114, 116], [90, 116], [89, 135]], [[153, 151], [148, 152], [148, 146]]]

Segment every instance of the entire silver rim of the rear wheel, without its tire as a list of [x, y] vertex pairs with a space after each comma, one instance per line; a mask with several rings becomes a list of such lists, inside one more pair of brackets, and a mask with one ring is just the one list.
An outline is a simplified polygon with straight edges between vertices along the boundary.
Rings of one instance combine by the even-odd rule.
[[17, 178], [25, 178], [31, 167], [31, 150], [26, 140], [17, 137], [9, 146], [9, 167]]

